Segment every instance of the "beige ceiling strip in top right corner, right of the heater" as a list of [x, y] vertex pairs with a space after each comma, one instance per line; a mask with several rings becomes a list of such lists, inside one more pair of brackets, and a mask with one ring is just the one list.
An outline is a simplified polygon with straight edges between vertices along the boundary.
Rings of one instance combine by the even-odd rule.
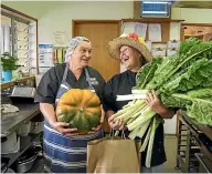
[[172, 4], [173, 8], [197, 8], [197, 9], [212, 9], [212, 0], [208, 1], [176, 1]]

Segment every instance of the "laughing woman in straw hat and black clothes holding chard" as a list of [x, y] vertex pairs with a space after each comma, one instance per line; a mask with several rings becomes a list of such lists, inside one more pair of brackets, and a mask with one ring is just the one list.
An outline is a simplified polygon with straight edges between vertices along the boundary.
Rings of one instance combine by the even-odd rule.
[[[151, 61], [152, 55], [146, 48], [146, 43], [142, 38], [139, 38], [136, 33], [123, 34], [119, 38], [109, 42], [109, 54], [120, 62], [127, 69], [120, 74], [114, 75], [105, 85], [104, 90], [104, 110], [108, 117], [108, 123], [112, 129], [116, 131], [124, 130], [124, 123], [120, 120], [114, 121], [112, 116], [118, 110], [121, 110], [128, 101], [116, 101], [116, 95], [130, 94], [131, 88], [136, 85], [136, 74], [140, 70], [141, 65]], [[171, 119], [174, 115], [172, 110], [166, 109], [156, 93], [152, 91], [147, 94], [147, 104], [156, 111], [163, 119]], [[129, 131], [126, 130], [125, 134], [128, 135]], [[146, 150], [147, 151], [147, 150]], [[163, 125], [160, 124], [156, 131], [151, 167], [145, 166], [146, 154], [141, 154], [141, 172], [155, 173], [162, 172], [163, 163], [166, 162], [166, 153], [163, 146]]]

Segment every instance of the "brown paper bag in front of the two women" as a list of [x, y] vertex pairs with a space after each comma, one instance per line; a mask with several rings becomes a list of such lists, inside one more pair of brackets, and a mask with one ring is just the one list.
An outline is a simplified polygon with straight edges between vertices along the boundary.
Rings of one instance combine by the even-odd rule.
[[140, 153], [137, 153], [137, 145], [132, 140], [120, 137], [88, 142], [87, 173], [139, 173]]

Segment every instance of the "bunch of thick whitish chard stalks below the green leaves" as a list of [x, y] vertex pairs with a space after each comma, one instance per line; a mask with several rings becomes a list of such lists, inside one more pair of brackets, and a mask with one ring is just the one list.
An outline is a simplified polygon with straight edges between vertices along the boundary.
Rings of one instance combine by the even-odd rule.
[[[148, 146], [146, 166], [149, 167], [153, 137], [157, 127], [157, 117], [155, 116], [156, 112], [146, 104], [146, 101], [144, 99], [139, 99], [141, 94], [145, 95], [147, 92], [148, 90], [132, 90], [134, 96], [136, 96], [136, 94], [139, 95], [138, 99], [129, 102], [123, 108], [123, 110], [118, 111], [113, 116], [114, 120], [124, 121], [127, 129], [130, 131], [128, 137], [131, 140], [135, 140], [136, 136], [142, 139], [145, 133], [148, 131], [140, 152], [144, 152]], [[123, 95], [121, 99], [125, 100]], [[119, 131], [116, 131], [116, 135], [118, 135], [118, 133]]]

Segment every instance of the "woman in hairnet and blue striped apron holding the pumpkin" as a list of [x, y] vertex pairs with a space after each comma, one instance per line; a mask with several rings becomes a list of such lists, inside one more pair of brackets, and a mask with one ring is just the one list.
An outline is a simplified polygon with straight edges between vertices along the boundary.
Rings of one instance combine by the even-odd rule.
[[[91, 41], [84, 37], [73, 38], [66, 52], [66, 63], [50, 69], [42, 78], [35, 102], [44, 121], [44, 171], [50, 173], [86, 173], [86, 145], [103, 136], [97, 126], [88, 135], [78, 135], [68, 123], [57, 122], [55, 105], [70, 89], [89, 89], [102, 99], [105, 80], [88, 66], [92, 55]], [[100, 125], [100, 124], [99, 124]]]

